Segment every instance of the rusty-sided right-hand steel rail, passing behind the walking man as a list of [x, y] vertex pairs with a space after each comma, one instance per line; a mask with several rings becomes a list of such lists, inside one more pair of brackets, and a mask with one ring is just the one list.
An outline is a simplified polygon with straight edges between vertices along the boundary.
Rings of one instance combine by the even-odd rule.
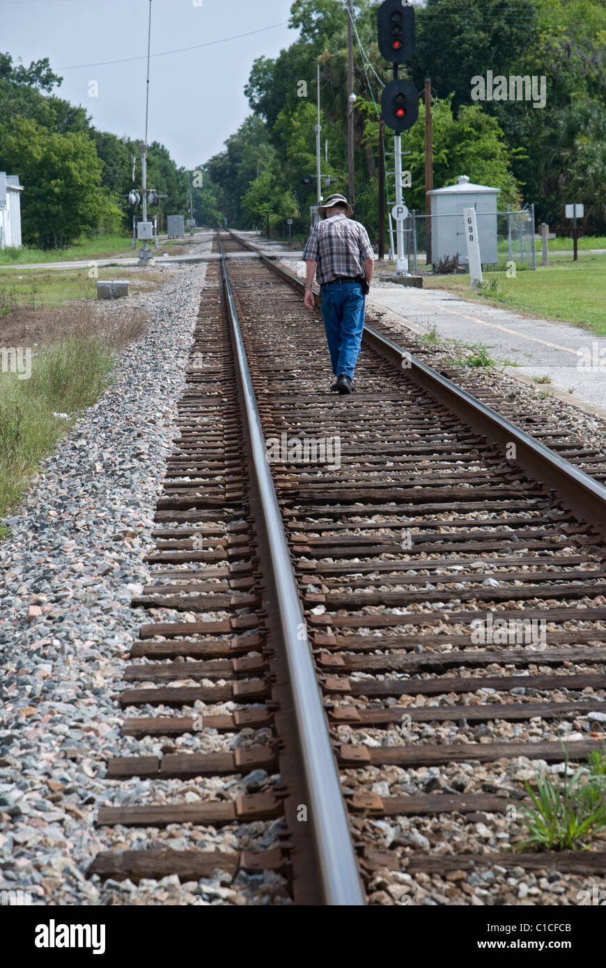
[[[304, 291], [304, 284], [297, 276], [288, 272], [288, 269], [282, 265], [276, 265], [270, 258], [258, 252], [252, 243], [239, 238], [231, 229], [227, 231], [241, 245], [257, 252], [258, 257], [291, 286]], [[315, 291], [314, 295], [318, 305], [318, 291]], [[387, 336], [383, 336], [368, 323], [364, 324], [364, 340], [386, 359], [408, 370], [424, 389], [437, 397], [444, 406], [454, 410], [473, 429], [499, 443], [503, 447], [503, 455], [504, 448], [509, 444], [515, 444], [515, 458], [512, 458], [512, 463], [530, 470], [538, 482], [558, 491], [559, 497], [575, 514], [584, 521], [590, 522], [606, 538], [606, 487], [603, 484], [594, 480], [584, 470], [575, 468], [550, 447], [531, 437], [496, 410], [477, 400], [467, 390], [457, 386], [451, 379], [423, 363]]]

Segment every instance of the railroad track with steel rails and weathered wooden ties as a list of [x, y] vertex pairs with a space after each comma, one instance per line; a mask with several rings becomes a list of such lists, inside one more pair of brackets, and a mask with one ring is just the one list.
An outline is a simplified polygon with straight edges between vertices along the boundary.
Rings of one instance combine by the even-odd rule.
[[474, 400], [385, 326], [355, 394], [330, 395], [297, 287], [266, 259], [209, 266], [133, 600], [152, 619], [119, 697], [136, 755], [108, 764], [197, 799], [98, 818], [222, 826], [238, 849], [107, 851], [91, 872], [220, 868], [346, 905], [407, 903], [415, 879], [447, 903], [482, 865], [606, 872], [599, 848], [502, 852], [495, 826], [524, 797], [520, 757], [560, 764], [561, 730], [570, 759], [604, 748], [603, 454], [523, 413], [530, 438], [512, 402]]

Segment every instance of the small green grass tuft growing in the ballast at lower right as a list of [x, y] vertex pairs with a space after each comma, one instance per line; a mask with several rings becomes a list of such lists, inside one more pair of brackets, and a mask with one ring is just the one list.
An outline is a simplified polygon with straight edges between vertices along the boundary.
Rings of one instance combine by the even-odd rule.
[[606, 756], [592, 750], [587, 767], [568, 776], [564, 747], [563, 776], [537, 772], [534, 787], [527, 781], [530, 803], [517, 804], [527, 836], [519, 850], [586, 850], [591, 838], [606, 829]]

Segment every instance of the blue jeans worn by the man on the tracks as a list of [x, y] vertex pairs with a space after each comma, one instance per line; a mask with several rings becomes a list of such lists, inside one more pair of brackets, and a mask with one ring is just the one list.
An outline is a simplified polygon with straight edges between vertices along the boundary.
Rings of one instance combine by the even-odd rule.
[[321, 310], [332, 372], [353, 378], [360, 355], [366, 297], [360, 283], [332, 283], [321, 287]]

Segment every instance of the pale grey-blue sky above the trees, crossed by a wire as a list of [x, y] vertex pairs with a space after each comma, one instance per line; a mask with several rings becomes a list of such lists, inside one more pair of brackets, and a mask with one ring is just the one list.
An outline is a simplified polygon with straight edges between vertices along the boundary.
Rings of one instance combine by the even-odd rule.
[[[152, 0], [148, 140], [166, 144], [177, 165], [207, 161], [250, 113], [243, 88], [253, 61], [297, 37], [287, 26], [290, 3]], [[96, 128], [142, 138], [148, 11], [149, 0], [0, 0], [0, 50], [26, 66], [48, 57], [64, 78], [56, 94], [84, 106]], [[250, 36], [212, 43], [239, 34]]]

